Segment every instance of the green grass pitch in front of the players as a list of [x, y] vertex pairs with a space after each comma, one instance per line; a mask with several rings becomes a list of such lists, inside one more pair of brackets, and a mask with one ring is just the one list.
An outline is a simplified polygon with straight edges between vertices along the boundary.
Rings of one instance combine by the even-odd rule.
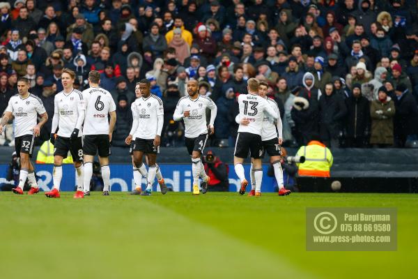
[[[416, 195], [100, 194], [0, 193], [0, 277], [416, 277]], [[396, 207], [398, 250], [306, 251], [307, 206]]]

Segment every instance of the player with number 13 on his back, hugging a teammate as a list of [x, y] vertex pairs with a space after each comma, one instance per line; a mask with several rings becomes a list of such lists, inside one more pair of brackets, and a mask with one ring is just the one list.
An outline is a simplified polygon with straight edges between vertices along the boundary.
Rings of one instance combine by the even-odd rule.
[[245, 179], [245, 172], [242, 163], [251, 152], [251, 159], [254, 165], [254, 178], [256, 181], [256, 196], [261, 195], [261, 181], [263, 180], [263, 169], [261, 158], [263, 156], [263, 143], [261, 142], [261, 131], [265, 114], [272, 119], [278, 119], [278, 113], [268, 104], [268, 101], [258, 96], [258, 80], [250, 78], [248, 80], [248, 94], [238, 96], [240, 107], [239, 119], [247, 119], [248, 125], [240, 124], [238, 128], [237, 140], [235, 142], [234, 168], [235, 173], [240, 178], [240, 195], [245, 194], [248, 185]]

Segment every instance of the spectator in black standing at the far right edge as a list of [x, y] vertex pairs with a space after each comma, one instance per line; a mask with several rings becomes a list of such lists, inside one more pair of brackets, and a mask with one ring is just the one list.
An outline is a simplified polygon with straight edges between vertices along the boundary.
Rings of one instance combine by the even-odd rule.
[[418, 108], [408, 87], [398, 84], [395, 89], [394, 142], [396, 147], [405, 147], [407, 140], [417, 140]]

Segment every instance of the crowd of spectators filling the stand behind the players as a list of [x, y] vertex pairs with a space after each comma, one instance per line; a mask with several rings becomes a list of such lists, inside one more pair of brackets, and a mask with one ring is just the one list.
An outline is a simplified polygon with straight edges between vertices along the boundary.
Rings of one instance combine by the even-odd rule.
[[[189, 79], [217, 104], [212, 146], [233, 146], [236, 98], [247, 80], [270, 85], [284, 145], [313, 132], [331, 147], [404, 147], [418, 135], [417, 1], [0, 0], [0, 112], [27, 77], [49, 114], [63, 68], [76, 88], [90, 70], [117, 105], [113, 146], [125, 146], [134, 87], [164, 102], [163, 146], [183, 146], [172, 119]], [[13, 146], [13, 123], [0, 137]]]

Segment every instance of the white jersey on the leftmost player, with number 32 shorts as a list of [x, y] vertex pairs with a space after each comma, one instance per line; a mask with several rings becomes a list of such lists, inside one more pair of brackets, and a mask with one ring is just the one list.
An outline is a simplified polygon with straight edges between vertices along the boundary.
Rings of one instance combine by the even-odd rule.
[[38, 114], [46, 112], [42, 100], [29, 93], [22, 99], [19, 94], [10, 97], [6, 112], [15, 116], [15, 137], [33, 135], [33, 127], [38, 123]]

